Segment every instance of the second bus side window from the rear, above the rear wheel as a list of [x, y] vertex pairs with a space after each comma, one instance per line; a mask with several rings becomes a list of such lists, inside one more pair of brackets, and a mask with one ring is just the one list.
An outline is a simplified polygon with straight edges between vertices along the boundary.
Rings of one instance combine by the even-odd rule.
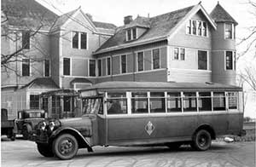
[[224, 92], [213, 92], [213, 110], [225, 110], [225, 107]]

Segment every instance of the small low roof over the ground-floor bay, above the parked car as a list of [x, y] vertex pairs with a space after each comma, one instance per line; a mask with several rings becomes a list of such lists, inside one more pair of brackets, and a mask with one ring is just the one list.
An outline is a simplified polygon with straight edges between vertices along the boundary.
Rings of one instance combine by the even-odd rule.
[[51, 78], [35, 78], [21, 89], [60, 89]]

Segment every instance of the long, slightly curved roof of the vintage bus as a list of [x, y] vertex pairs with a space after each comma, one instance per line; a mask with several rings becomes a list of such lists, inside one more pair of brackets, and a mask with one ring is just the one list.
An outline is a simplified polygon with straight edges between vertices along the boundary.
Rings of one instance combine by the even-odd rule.
[[96, 89], [98, 92], [108, 91], [242, 91], [241, 87], [221, 83], [164, 83], [164, 82], [125, 82], [111, 81], [96, 83], [80, 92]]

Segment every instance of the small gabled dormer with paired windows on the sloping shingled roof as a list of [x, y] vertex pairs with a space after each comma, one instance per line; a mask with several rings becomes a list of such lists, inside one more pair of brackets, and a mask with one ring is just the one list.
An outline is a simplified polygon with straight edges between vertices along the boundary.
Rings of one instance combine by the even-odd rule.
[[132, 20], [132, 16], [125, 16], [125, 36], [126, 42], [134, 41], [141, 37], [144, 32], [150, 28], [149, 18], [137, 16], [135, 20]]

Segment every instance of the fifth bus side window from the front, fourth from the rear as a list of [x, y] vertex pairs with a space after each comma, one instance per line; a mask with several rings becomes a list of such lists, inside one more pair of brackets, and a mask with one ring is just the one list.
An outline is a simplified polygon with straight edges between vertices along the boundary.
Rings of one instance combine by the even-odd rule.
[[196, 107], [196, 94], [195, 92], [183, 93], [183, 112], [195, 112]]

